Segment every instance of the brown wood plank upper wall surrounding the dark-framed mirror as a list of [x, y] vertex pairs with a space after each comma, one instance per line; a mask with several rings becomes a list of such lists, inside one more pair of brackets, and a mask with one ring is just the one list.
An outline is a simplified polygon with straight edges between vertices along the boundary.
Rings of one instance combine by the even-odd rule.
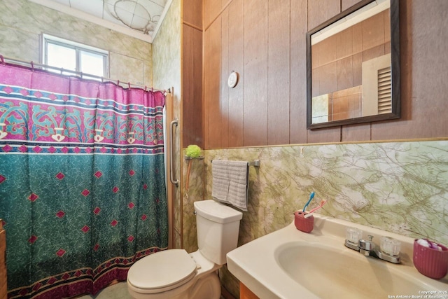
[[306, 129], [305, 34], [357, 2], [204, 0], [204, 147], [448, 137], [444, 0], [400, 0], [402, 118]]

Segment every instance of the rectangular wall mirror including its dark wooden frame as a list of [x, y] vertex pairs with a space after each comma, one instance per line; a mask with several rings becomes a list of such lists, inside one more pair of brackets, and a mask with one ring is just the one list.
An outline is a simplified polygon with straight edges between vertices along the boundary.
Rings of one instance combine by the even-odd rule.
[[400, 118], [398, 0], [363, 0], [307, 32], [307, 128]]

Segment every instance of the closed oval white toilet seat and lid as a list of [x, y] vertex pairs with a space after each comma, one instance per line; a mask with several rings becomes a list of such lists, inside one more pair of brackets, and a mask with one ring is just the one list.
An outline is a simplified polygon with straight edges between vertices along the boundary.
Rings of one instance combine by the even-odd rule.
[[127, 281], [142, 293], [178, 288], [196, 275], [196, 263], [184, 249], [159, 251], [141, 258], [127, 272]]

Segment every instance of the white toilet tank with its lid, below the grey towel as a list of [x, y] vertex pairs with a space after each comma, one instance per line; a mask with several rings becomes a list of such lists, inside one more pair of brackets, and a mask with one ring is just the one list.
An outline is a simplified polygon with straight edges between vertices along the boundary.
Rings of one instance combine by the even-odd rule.
[[237, 248], [241, 211], [216, 202], [202, 200], [194, 202], [196, 211], [197, 246], [202, 256], [224, 265], [225, 255]]

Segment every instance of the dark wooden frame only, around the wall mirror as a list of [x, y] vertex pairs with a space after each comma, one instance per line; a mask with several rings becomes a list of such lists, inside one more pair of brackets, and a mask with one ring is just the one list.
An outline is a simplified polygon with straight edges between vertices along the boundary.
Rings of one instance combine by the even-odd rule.
[[399, 0], [389, 0], [391, 10], [391, 113], [378, 114], [374, 116], [361, 116], [358, 118], [347, 118], [344, 120], [333, 120], [326, 123], [311, 123], [311, 35], [319, 30], [332, 25], [334, 22], [346, 17], [374, 0], [363, 0], [346, 9], [342, 13], [324, 22], [318, 27], [307, 32], [307, 129], [319, 129], [323, 127], [335, 127], [341, 125], [353, 125], [358, 123], [370, 123], [378, 120], [392, 120], [400, 118], [400, 13]]

